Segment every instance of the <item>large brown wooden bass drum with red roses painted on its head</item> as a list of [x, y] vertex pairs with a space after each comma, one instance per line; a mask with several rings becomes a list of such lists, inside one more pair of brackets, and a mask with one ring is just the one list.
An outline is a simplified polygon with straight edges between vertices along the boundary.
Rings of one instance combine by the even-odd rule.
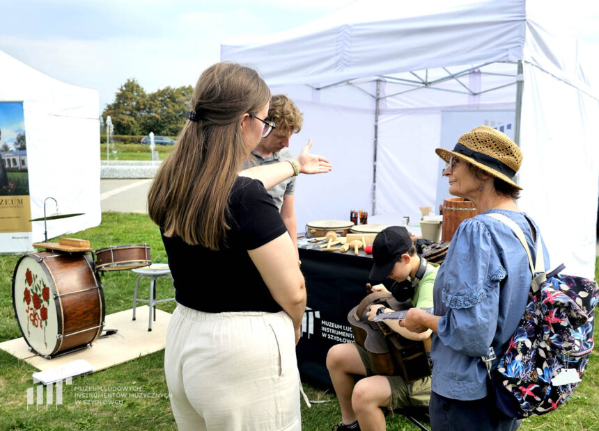
[[24, 255], [13, 276], [13, 307], [27, 344], [48, 359], [91, 345], [104, 326], [104, 292], [88, 254]]

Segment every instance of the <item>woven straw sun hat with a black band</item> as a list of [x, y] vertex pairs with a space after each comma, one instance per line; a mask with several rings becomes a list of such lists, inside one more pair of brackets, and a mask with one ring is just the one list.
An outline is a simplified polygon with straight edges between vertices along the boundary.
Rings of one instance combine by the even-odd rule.
[[435, 152], [446, 163], [449, 163], [449, 158], [453, 156], [522, 190], [522, 187], [512, 180], [522, 164], [522, 151], [513, 140], [499, 130], [488, 126], [476, 127], [460, 136], [453, 151], [437, 148]]

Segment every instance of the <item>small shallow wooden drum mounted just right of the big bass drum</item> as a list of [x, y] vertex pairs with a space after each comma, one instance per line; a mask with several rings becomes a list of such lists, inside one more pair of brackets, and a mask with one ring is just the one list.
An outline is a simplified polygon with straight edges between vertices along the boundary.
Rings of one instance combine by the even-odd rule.
[[152, 263], [150, 246], [148, 244], [111, 245], [93, 252], [95, 269], [98, 271], [120, 271]]

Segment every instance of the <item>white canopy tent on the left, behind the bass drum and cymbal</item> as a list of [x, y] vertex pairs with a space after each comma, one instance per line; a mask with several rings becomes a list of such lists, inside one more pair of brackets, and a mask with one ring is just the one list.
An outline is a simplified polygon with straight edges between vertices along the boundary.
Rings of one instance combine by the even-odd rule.
[[[97, 90], [62, 83], [0, 51], [0, 101], [22, 101], [31, 218], [44, 216], [54, 197], [59, 213], [84, 213], [47, 221], [47, 236], [100, 224], [100, 120]], [[56, 212], [52, 200], [46, 213]], [[32, 222], [31, 243], [44, 240], [44, 222]], [[13, 250], [26, 251], [26, 250]]]

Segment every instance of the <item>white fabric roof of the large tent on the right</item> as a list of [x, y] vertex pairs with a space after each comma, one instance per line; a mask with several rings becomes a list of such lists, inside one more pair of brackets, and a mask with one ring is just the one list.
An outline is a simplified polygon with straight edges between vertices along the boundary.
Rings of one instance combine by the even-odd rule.
[[540, 0], [430, 0], [426, 8], [357, 0], [296, 29], [223, 44], [221, 59], [255, 67], [270, 86], [524, 60], [599, 98], [591, 90], [599, 88], [597, 67], [589, 67], [590, 50], [561, 17], [565, 7]]

